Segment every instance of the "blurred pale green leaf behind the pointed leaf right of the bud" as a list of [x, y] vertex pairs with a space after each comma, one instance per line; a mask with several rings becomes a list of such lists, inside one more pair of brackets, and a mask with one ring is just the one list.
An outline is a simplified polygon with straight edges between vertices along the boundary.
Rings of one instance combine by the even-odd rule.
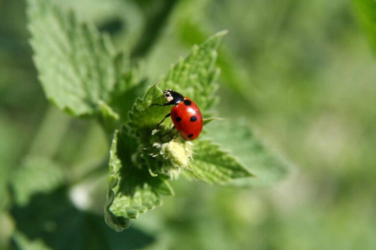
[[[238, 161], [257, 178], [237, 180], [236, 185], [265, 185], [282, 179], [289, 165], [257, 138], [250, 126], [242, 120], [221, 121], [206, 125], [207, 135], [235, 155]], [[204, 137], [205, 137], [204, 136]], [[195, 156], [193, 156], [195, 159]]]

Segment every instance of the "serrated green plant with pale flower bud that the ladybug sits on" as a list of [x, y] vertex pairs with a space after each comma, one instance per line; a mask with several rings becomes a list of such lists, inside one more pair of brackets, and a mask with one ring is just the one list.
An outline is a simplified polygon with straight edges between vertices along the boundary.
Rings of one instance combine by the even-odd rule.
[[[212, 118], [217, 102], [217, 48], [226, 32], [194, 46], [145, 91], [149, 81], [141, 67], [116, 53], [109, 36], [100, 34], [93, 24], [77, 21], [73, 13], [48, 0], [27, 3], [34, 62], [48, 100], [74, 117], [96, 119], [112, 140], [105, 204], [105, 220], [111, 228], [128, 228], [130, 219], [160, 206], [163, 195], [173, 195], [169, 180], [179, 175], [210, 184], [248, 186], [255, 177], [253, 165], [269, 173], [285, 172], [285, 164], [242, 121]], [[218, 120], [211, 122], [212, 129], [204, 126], [203, 135], [193, 142], [184, 141], [176, 132], [162, 138], [171, 123], [164, 123], [160, 130], [155, 125], [170, 107], [151, 104], [163, 102], [162, 89], [166, 88], [192, 98], [206, 118], [205, 126]], [[227, 141], [234, 151], [224, 150], [214, 137]], [[42, 159], [43, 165], [36, 162], [25, 161], [14, 178], [16, 197], [24, 204], [34, 192], [52, 190], [61, 183], [58, 166], [48, 159]], [[46, 171], [48, 164], [51, 168]], [[43, 187], [28, 186], [23, 182], [28, 173], [46, 175], [51, 181]], [[28, 192], [21, 195], [25, 189]]]

